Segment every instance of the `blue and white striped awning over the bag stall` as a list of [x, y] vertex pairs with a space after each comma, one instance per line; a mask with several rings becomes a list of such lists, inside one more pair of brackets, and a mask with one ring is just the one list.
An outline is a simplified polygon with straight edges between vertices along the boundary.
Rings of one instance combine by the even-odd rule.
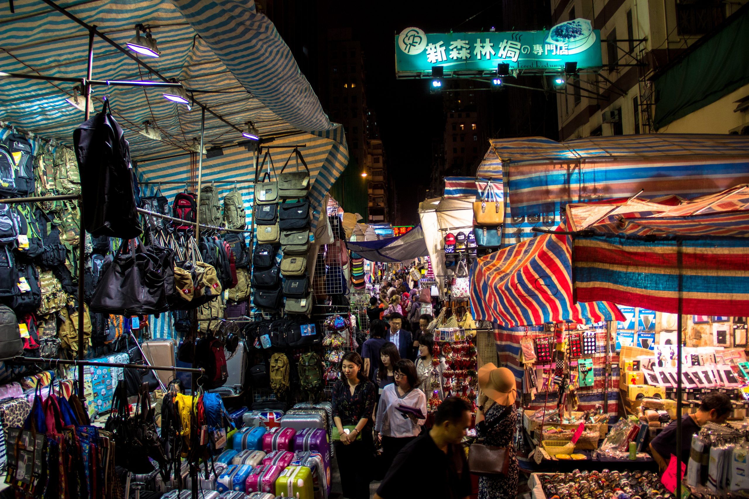
[[[166, 78], [182, 82], [189, 95], [221, 117], [206, 113], [206, 147], [226, 150], [225, 156], [204, 159], [207, 178], [254, 180], [252, 154], [237, 147], [246, 141], [237, 128], [246, 129], [245, 123], [252, 121], [264, 143], [307, 144], [300, 150], [312, 171], [312, 200], [319, 209], [348, 164], [343, 128], [328, 120], [288, 46], [252, 0], [67, 0], [60, 4], [120, 46], [135, 36], [137, 24], [151, 28], [161, 54], [143, 61]], [[0, 19], [0, 70], [85, 77], [88, 31], [43, 1], [15, 0], [14, 5], [15, 13], [4, 10]], [[93, 68], [94, 79], [159, 80], [99, 37], [94, 39]], [[83, 112], [65, 101], [75, 85], [0, 79], [0, 120], [70, 146], [73, 130], [83, 120]], [[162, 92], [93, 88], [95, 110], [101, 108], [101, 98], [109, 96], [136, 162], [186, 153], [200, 135], [200, 107], [193, 105], [188, 111], [186, 105], [164, 99]], [[161, 132], [162, 141], [139, 133], [145, 120]], [[273, 150], [277, 171], [289, 153], [291, 149]], [[234, 161], [227, 161], [230, 157]], [[142, 162], [139, 175], [142, 180], [187, 179], [189, 162], [189, 156]], [[294, 162], [290, 168], [294, 171]]]

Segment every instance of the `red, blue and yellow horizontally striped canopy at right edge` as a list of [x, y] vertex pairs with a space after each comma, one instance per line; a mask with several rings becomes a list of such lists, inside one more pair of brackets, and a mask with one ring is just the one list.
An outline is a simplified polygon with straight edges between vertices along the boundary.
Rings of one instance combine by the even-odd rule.
[[627, 213], [578, 234], [577, 299], [595, 297], [678, 313], [681, 285], [683, 313], [749, 314], [746, 188], [737, 186], [646, 216]]

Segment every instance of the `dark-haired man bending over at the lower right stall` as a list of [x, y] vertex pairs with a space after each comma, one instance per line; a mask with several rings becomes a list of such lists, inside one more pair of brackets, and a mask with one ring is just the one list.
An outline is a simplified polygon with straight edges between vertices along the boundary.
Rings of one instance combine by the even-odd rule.
[[[726, 394], [717, 391], [703, 395], [700, 408], [694, 414], [682, 416], [682, 462], [689, 460], [692, 448], [692, 435], [700, 431], [701, 426], [706, 423], [723, 424], [733, 411], [731, 399]], [[650, 442], [650, 450], [653, 459], [658, 462], [661, 471], [665, 470], [671, 459], [671, 454], [676, 455], [676, 421], [666, 426], [658, 436]]]

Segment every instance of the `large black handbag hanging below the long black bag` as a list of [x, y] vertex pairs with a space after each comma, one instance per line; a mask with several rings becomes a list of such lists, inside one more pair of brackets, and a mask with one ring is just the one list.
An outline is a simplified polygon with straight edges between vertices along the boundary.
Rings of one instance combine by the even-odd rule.
[[169, 286], [174, 289], [174, 254], [170, 248], [142, 245], [130, 250], [124, 240], [94, 290], [91, 311], [116, 315], [151, 315], [169, 310]]

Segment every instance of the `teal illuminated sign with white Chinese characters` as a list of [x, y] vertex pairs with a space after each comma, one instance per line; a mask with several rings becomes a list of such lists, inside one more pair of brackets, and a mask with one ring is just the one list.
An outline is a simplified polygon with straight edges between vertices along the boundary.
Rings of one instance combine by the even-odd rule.
[[[405, 28], [395, 37], [395, 74], [398, 78], [445, 76], [506, 76], [563, 72], [574, 62], [577, 70], [599, 70], [601, 31], [587, 19], [562, 22], [547, 31], [490, 31], [488, 33], [425, 33]], [[507, 66], [506, 66], [507, 65]], [[567, 65], [566, 67], [569, 67]], [[486, 72], [482, 75], [482, 72]]]

